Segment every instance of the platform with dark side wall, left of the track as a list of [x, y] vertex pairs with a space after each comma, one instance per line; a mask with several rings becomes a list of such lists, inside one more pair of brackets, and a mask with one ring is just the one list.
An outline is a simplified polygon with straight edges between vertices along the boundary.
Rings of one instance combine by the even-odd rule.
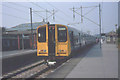
[[2, 74], [10, 73], [19, 68], [31, 65], [42, 58], [37, 57], [37, 50], [14, 50], [2, 52], [0, 60], [2, 59]]

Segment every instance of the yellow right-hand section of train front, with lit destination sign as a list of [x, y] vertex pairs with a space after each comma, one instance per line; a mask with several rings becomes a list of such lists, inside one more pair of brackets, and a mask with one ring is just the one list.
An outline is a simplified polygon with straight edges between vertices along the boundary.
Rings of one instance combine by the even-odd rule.
[[68, 28], [64, 25], [56, 25], [56, 27], [56, 57], [68, 57], [71, 53]]

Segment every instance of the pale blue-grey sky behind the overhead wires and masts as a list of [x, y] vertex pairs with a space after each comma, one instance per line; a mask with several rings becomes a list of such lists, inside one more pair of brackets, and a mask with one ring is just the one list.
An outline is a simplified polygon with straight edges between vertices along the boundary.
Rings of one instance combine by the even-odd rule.
[[[100, 2], [101, 4], [101, 16], [102, 16], [102, 32], [115, 31], [115, 24], [118, 23], [118, 3], [117, 2]], [[0, 4], [1, 5], [1, 4]], [[33, 11], [33, 22], [41, 22], [43, 18], [46, 18], [45, 10], [52, 12], [54, 9], [55, 21], [50, 17], [48, 21], [50, 23], [58, 24], [73, 24], [81, 22], [81, 17], [75, 14], [75, 20], [73, 20], [73, 12], [70, 8], [80, 8], [88, 6], [98, 6], [98, 2], [2, 2], [2, 26], [10, 28], [22, 23], [30, 22], [30, 11], [31, 7]], [[96, 24], [99, 24], [99, 7], [96, 8], [83, 8], [83, 15], [88, 11], [92, 11], [85, 15], [86, 18], [91, 19]], [[80, 10], [77, 11], [81, 13]], [[48, 16], [51, 14], [48, 13]], [[41, 17], [42, 16], [42, 17]], [[84, 32], [90, 31], [91, 34], [99, 33], [99, 26], [94, 24], [83, 17], [83, 23], [69, 25]]]

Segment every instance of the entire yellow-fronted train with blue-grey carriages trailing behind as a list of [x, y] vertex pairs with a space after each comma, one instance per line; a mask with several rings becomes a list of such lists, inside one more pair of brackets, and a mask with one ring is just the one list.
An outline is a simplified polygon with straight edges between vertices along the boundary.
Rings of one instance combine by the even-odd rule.
[[37, 27], [37, 56], [44, 57], [48, 65], [74, 55], [74, 51], [96, 42], [92, 35], [62, 24]]

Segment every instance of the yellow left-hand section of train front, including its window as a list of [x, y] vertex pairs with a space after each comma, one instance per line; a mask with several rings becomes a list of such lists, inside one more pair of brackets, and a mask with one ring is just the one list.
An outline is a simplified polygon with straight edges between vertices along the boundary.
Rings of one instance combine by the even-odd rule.
[[37, 56], [48, 56], [48, 28], [46, 26], [37, 28]]

